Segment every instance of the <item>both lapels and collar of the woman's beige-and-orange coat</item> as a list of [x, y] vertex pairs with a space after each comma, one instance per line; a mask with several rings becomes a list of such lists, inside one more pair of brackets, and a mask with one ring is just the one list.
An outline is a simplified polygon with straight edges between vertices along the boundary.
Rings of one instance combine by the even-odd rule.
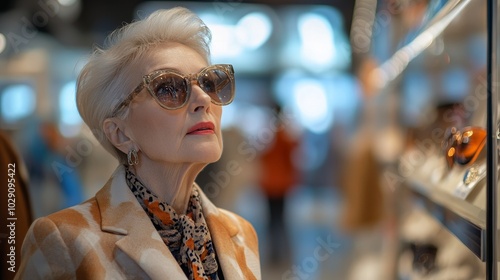
[[[152, 279], [186, 279], [125, 180], [125, 168], [120, 165], [96, 194], [101, 214], [101, 230], [123, 235], [123, 238], [116, 242], [116, 246]], [[195, 187], [199, 189], [197, 185]], [[219, 265], [226, 279], [233, 279], [231, 275], [237, 279], [237, 276], [243, 274], [241, 268], [234, 265], [231, 250], [228, 251], [228, 248], [231, 249], [234, 245], [228, 243], [233, 243], [229, 241], [237, 238], [239, 228], [235, 221], [220, 211], [200, 189], [199, 193]]]

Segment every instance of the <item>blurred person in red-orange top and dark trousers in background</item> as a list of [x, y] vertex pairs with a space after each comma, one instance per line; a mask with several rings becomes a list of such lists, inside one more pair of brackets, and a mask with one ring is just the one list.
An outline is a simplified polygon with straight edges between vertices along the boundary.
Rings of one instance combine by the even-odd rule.
[[285, 229], [285, 198], [298, 183], [298, 170], [293, 163], [297, 140], [290, 136], [286, 124], [281, 121], [281, 107], [275, 105], [277, 125], [274, 138], [260, 156], [259, 185], [268, 203], [268, 241], [271, 261], [279, 262], [288, 256], [288, 236]]

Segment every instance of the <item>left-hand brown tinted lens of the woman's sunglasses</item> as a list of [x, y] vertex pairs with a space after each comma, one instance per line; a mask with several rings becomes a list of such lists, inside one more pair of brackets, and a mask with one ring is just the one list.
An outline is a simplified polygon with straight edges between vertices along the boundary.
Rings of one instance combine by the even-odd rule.
[[188, 96], [188, 82], [181, 76], [165, 73], [154, 78], [150, 88], [158, 101], [169, 109], [182, 107]]

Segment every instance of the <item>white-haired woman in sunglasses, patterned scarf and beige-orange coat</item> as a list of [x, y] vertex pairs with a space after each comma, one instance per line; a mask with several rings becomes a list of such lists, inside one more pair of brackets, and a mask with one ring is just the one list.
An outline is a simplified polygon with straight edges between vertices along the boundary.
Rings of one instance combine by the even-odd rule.
[[210, 31], [184, 8], [110, 36], [78, 78], [85, 123], [122, 163], [81, 205], [36, 220], [19, 278], [260, 279], [257, 237], [194, 183], [222, 152], [230, 65], [209, 66]]

